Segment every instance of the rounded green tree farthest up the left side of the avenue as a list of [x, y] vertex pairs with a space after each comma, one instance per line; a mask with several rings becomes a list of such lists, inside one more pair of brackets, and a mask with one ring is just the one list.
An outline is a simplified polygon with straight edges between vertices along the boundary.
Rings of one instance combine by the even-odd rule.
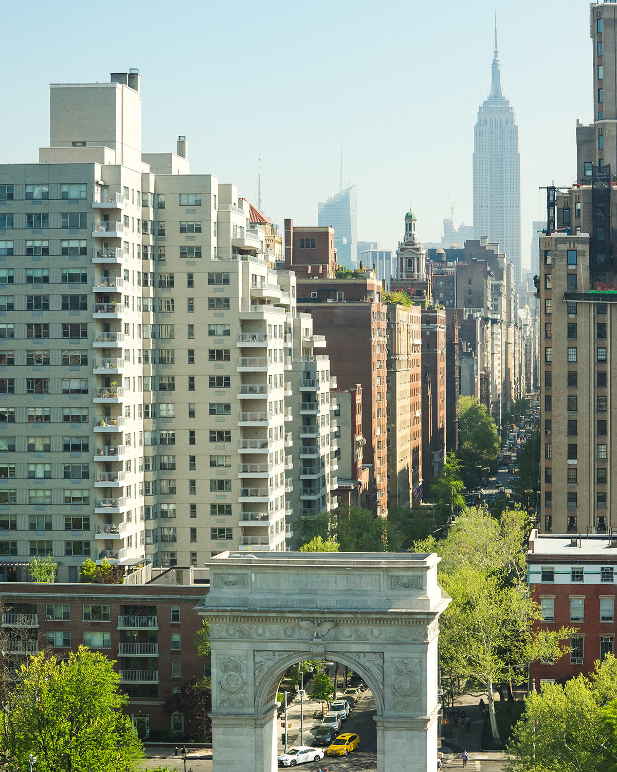
[[460, 476], [472, 490], [499, 455], [499, 432], [487, 406], [474, 397], [460, 397], [458, 406]]

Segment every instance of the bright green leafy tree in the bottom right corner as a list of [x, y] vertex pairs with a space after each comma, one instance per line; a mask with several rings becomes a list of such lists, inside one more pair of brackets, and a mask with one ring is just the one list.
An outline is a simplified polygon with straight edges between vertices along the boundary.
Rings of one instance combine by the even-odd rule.
[[615, 772], [617, 660], [607, 655], [589, 678], [531, 692], [508, 751], [511, 772]]

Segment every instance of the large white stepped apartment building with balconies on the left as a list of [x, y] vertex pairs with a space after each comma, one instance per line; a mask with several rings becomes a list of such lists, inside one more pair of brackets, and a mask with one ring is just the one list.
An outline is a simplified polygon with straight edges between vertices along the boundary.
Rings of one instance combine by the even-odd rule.
[[0, 165], [4, 579], [35, 554], [76, 581], [86, 557], [285, 550], [315, 341], [272, 260], [237, 188], [189, 174], [184, 137], [142, 153], [137, 70], [51, 86], [50, 147]]

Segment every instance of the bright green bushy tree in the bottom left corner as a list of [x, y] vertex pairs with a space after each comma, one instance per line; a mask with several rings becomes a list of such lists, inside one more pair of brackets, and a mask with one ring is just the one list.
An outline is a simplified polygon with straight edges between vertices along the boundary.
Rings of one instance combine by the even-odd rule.
[[3, 714], [2, 761], [25, 770], [34, 753], [37, 772], [136, 770], [143, 748], [122, 713], [128, 698], [109, 659], [86, 646], [68, 662], [41, 652], [22, 665], [20, 679]]

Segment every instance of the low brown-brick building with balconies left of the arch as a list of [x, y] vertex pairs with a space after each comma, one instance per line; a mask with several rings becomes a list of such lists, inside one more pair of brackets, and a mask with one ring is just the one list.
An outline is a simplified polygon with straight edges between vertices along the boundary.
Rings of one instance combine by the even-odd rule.
[[46, 649], [64, 657], [87, 645], [113, 660], [130, 699], [125, 712], [140, 734], [182, 732], [182, 717], [165, 715], [163, 704], [184, 681], [210, 675], [210, 660], [194, 643], [202, 624], [194, 607], [208, 585], [176, 582], [201, 573], [170, 569], [151, 584], [5, 583], [2, 628], [15, 646], [8, 653]]

